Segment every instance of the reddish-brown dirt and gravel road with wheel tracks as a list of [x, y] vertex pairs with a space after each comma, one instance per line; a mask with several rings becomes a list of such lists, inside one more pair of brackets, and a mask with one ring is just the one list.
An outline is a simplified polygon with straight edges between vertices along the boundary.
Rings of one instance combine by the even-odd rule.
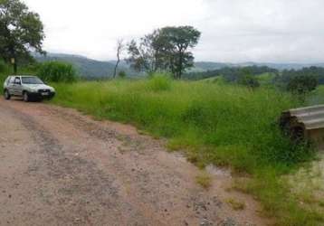
[[0, 99], [0, 225], [265, 224], [256, 202], [226, 190], [230, 174], [212, 173], [206, 191], [194, 165], [133, 127]]

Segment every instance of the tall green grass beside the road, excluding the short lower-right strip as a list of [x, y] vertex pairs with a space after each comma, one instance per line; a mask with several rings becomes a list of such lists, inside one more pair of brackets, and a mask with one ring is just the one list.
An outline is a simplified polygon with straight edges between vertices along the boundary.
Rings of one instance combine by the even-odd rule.
[[275, 90], [160, 77], [57, 84], [56, 89], [55, 102], [168, 137], [173, 148], [208, 147], [207, 160], [207, 156], [200, 159], [206, 164], [216, 161], [253, 174], [262, 165], [284, 170], [304, 158], [305, 150], [291, 146], [277, 127], [281, 111], [297, 103]]

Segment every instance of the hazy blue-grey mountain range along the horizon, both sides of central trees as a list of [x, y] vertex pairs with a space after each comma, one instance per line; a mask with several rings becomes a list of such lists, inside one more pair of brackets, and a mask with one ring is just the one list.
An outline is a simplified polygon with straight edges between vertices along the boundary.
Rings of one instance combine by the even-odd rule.
[[[47, 53], [46, 56], [34, 54], [36, 61], [67, 61], [74, 65], [82, 77], [86, 78], [106, 78], [113, 74], [116, 61], [96, 61], [81, 55]], [[244, 66], [268, 66], [277, 70], [299, 70], [304, 67], [317, 66], [324, 67], [324, 63], [271, 63], [271, 62], [243, 62], [227, 63], [214, 61], [196, 61], [195, 67], [189, 72], [213, 71], [224, 67], [244, 67]], [[120, 61], [119, 70], [125, 71], [129, 76], [142, 76], [143, 73], [134, 71], [126, 61]]]

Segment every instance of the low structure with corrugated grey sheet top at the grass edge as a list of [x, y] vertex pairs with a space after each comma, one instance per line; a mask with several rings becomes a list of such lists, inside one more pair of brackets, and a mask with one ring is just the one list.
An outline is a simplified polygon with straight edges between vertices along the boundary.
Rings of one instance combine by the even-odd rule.
[[309, 140], [324, 149], [324, 105], [282, 112], [280, 124], [292, 140]]

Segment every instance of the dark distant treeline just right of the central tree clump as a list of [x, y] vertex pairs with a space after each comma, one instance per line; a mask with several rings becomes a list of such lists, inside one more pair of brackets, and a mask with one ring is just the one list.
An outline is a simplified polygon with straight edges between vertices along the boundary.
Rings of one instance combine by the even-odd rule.
[[234, 81], [238, 80], [242, 74], [251, 74], [253, 76], [262, 73], [278, 74], [279, 71], [267, 66], [247, 66], [247, 67], [224, 67], [222, 69], [203, 72], [189, 72], [186, 73], [185, 78], [189, 80], [203, 80], [217, 76], [223, 76], [224, 80]]

